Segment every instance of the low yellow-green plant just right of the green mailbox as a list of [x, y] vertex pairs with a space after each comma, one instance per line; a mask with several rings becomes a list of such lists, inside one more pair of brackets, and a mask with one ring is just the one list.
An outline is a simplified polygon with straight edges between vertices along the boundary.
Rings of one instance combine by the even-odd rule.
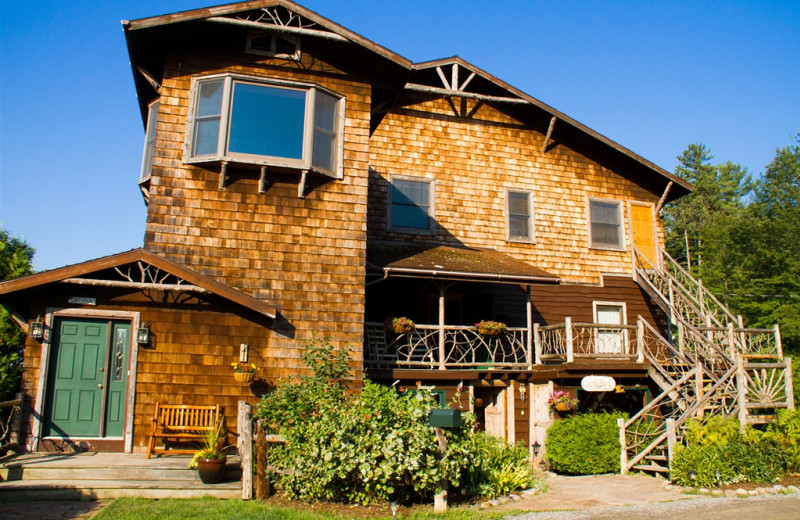
[[471, 494], [494, 498], [536, 484], [524, 446], [513, 446], [485, 432], [476, 432], [470, 451], [475, 458], [464, 481]]

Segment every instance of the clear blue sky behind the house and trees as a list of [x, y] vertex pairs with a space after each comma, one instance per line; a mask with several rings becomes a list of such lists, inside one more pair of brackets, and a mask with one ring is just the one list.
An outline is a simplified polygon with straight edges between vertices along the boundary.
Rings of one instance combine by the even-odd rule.
[[[120, 20], [202, 0], [0, 0], [0, 224], [50, 269], [142, 245], [144, 129]], [[306, 0], [413, 61], [457, 54], [673, 171], [760, 173], [800, 129], [800, 2]]]

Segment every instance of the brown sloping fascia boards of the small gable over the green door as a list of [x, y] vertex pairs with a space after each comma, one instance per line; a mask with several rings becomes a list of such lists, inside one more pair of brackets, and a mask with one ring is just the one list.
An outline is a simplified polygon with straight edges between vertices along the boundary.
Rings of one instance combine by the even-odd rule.
[[[23, 276], [21, 278], [16, 278], [14, 280], [0, 282], [0, 295], [16, 293], [19, 291], [24, 291], [26, 289], [39, 287], [41, 285], [63, 282], [65, 280], [75, 281], [75, 279], [78, 279], [78, 281], [80, 281], [80, 277], [84, 275], [97, 273], [99, 271], [104, 271], [106, 269], [113, 269], [115, 267], [120, 267], [137, 262], [143, 262], [157, 269], [163, 270], [169, 273], [170, 275], [176, 277], [179, 280], [179, 283], [181, 281], [188, 282], [189, 284], [194, 286], [194, 288], [199, 288], [204, 292], [216, 294], [217, 296], [220, 296], [222, 298], [225, 298], [226, 300], [237, 303], [243, 307], [251, 309], [259, 314], [263, 314], [264, 316], [267, 316], [269, 318], [275, 318], [275, 315], [277, 313], [275, 305], [271, 303], [267, 303], [263, 300], [259, 300], [258, 298], [249, 296], [241, 291], [233, 289], [232, 287], [229, 287], [215, 280], [212, 280], [207, 276], [203, 276], [201, 274], [192, 271], [191, 269], [188, 269], [186, 267], [176, 264], [175, 262], [167, 260], [163, 256], [159, 256], [155, 253], [152, 253], [142, 248], [132, 249], [124, 253], [104, 256], [101, 258], [96, 258], [94, 260], [89, 260], [87, 262], [68, 265], [65, 267], [60, 267], [58, 269], [52, 269], [41, 273]], [[136, 288], [137, 286], [142, 287], [151, 285], [157, 285], [157, 284], [144, 284], [144, 283], [137, 284], [136, 282], [131, 282], [129, 284], [129, 286], [133, 288]], [[179, 285], [170, 284], [165, 286], [165, 290], [180, 290], [179, 287], [180, 287]], [[187, 289], [189, 288], [192, 287], [191, 286], [187, 287]]]

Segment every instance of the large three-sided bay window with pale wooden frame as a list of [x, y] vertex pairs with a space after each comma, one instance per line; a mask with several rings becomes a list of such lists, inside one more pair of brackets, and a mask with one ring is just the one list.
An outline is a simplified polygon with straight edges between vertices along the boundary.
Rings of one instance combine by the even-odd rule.
[[230, 161], [341, 177], [343, 98], [312, 85], [196, 79], [186, 162]]

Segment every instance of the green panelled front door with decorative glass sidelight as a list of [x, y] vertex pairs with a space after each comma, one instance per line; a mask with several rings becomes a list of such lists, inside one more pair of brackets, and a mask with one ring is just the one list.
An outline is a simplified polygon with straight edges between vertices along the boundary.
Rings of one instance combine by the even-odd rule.
[[44, 435], [121, 437], [130, 324], [65, 318], [53, 330]]

